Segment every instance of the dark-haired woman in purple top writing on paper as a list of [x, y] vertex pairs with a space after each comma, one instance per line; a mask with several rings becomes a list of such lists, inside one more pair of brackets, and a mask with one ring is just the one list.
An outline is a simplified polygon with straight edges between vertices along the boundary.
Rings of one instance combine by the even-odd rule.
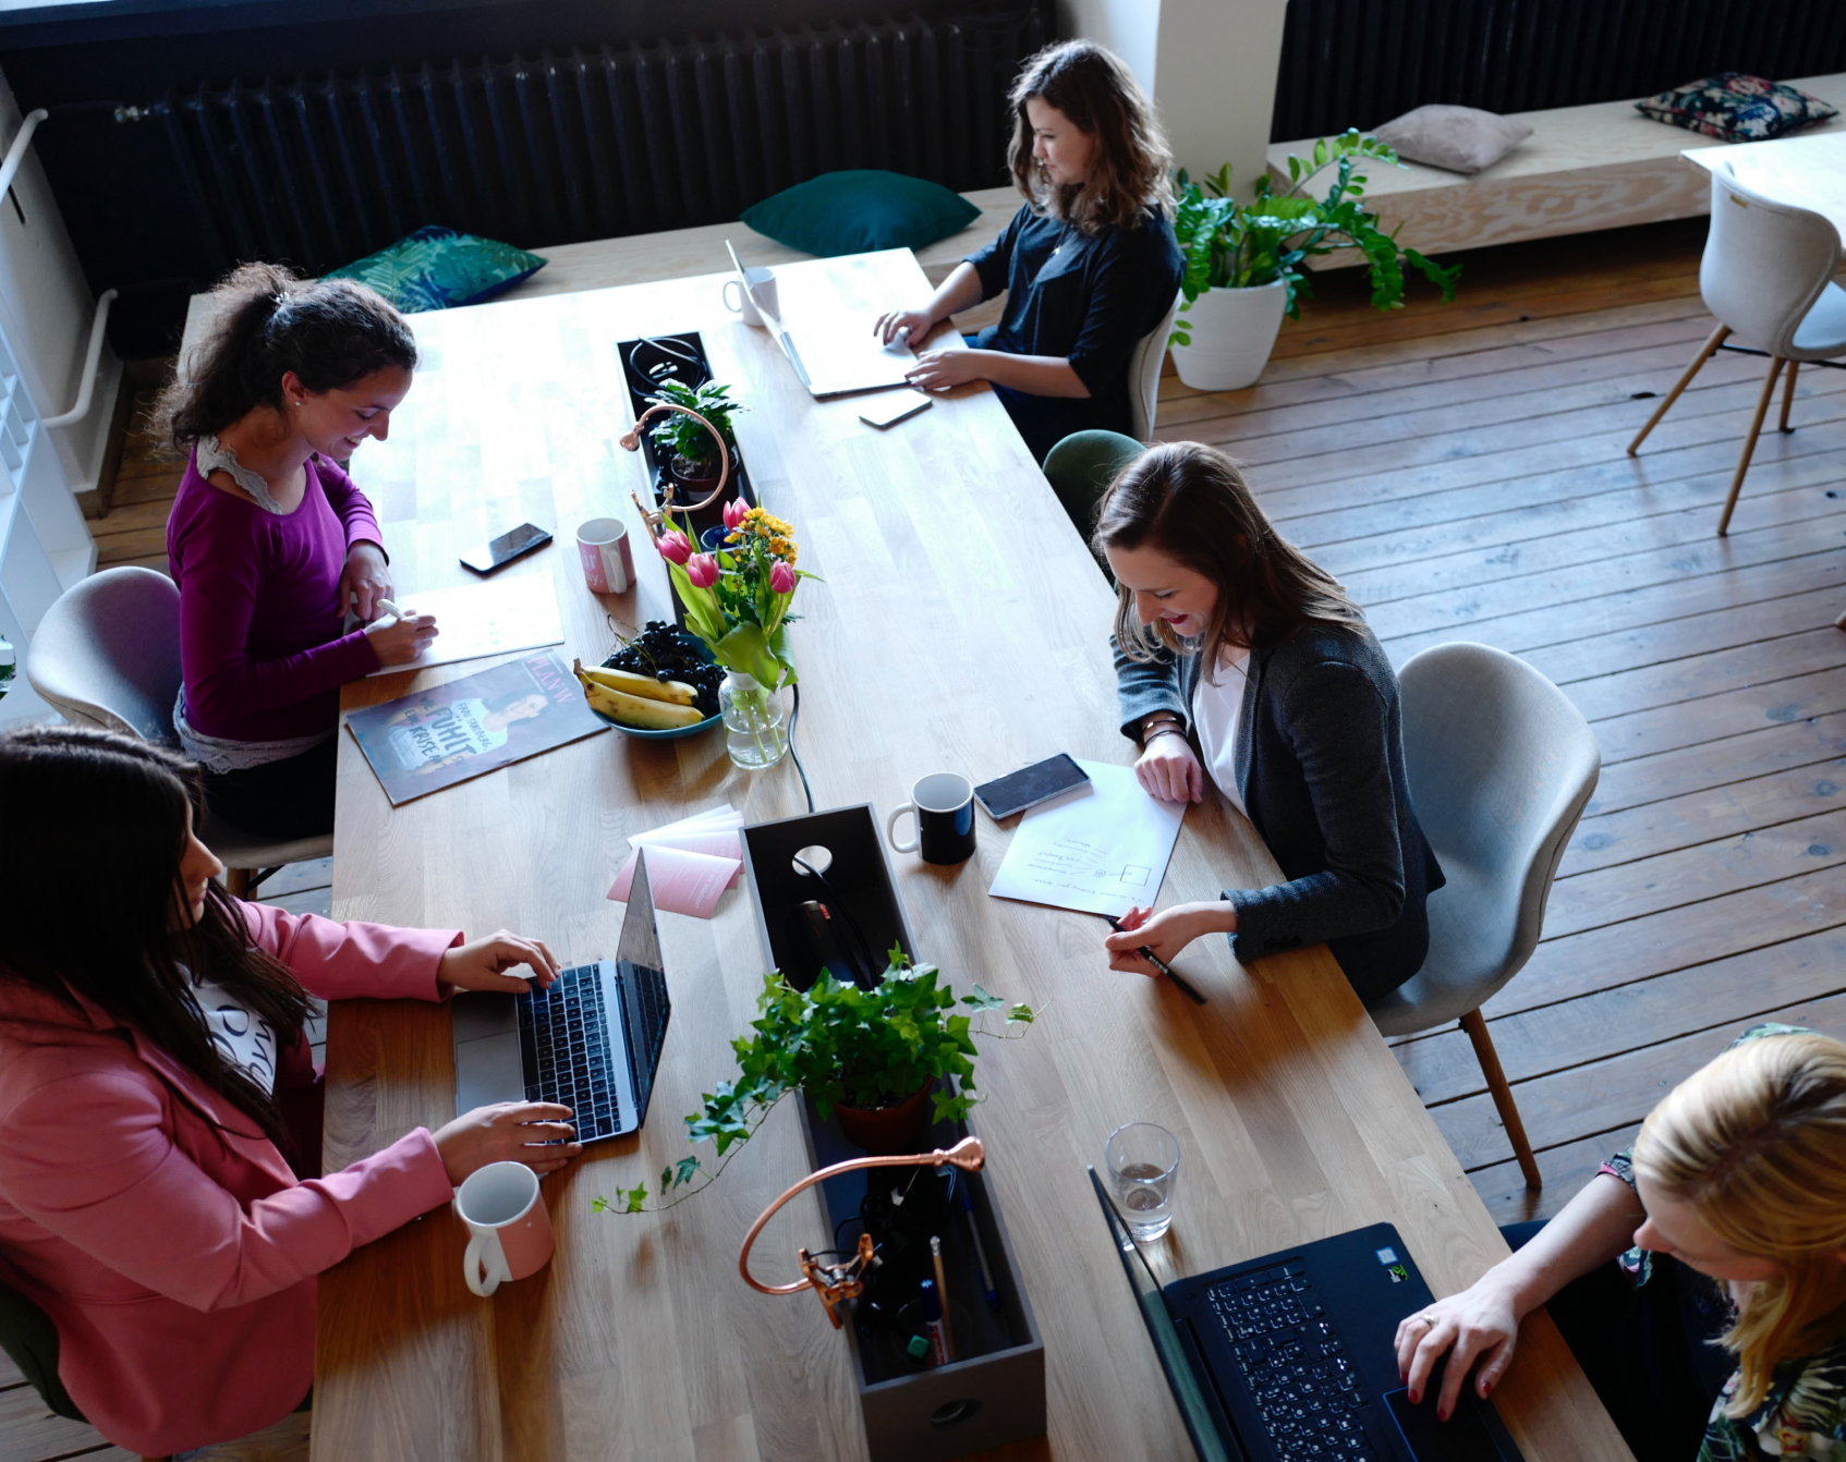
[[384, 441], [417, 343], [343, 279], [246, 264], [212, 299], [218, 325], [157, 410], [190, 454], [166, 521], [185, 679], [174, 729], [220, 818], [306, 838], [334, 825], [340, 687], [436, 635], [432, 618], [378, 607], [384, 535], [336, 463]]

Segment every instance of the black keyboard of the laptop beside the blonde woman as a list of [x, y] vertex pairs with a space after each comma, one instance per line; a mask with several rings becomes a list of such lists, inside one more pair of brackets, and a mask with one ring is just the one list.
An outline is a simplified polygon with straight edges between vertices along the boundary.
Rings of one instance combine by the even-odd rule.
[[1366, 1394], [1301, 1261], [1207, 1290], [1277, 1456], [1372, 1458]]

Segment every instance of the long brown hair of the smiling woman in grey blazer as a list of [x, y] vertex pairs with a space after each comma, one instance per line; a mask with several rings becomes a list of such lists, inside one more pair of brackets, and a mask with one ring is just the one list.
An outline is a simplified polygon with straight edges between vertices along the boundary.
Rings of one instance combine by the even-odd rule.
[[[1202, 637], [1205, 674], [1224, 648], [1266, 650], [1303, 624], [1366, 622], [1340, 581], [1276, 532], [1244, 474], [1217, 447], [1163, 441], [1130, 461], [1097, 509], [1091, 545], [1157, 548], [1218, 585], [1218, 607]], [[1133, 659], [1185, 644], [1156, 620], [1143, 626], [1135, 596], [1117, 591], [1115, 642]]]

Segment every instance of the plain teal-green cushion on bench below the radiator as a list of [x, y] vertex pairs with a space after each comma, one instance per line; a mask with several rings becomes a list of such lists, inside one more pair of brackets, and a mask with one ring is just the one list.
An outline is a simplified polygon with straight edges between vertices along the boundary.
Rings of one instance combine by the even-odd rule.
[[821, 174], [744, 209], [744, 222], [757, 233], [821, 258], [921, 249], [977, 218], [980, 209], [962, 194], [877, 168]]

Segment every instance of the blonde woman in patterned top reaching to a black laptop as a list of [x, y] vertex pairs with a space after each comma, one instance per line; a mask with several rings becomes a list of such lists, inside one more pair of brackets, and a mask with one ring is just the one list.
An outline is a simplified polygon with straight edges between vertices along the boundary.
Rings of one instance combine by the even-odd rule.
[[1438, 1416], [1477, 1360], [1493, 1388], [1547, 1305], [1639, 1462], [1846, 1456], [1846, 1043], [1744, 1032], [1521, 1228], [1510, 1259], [1397, 1327]]

